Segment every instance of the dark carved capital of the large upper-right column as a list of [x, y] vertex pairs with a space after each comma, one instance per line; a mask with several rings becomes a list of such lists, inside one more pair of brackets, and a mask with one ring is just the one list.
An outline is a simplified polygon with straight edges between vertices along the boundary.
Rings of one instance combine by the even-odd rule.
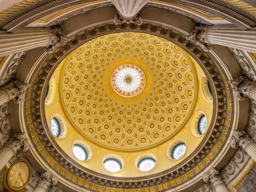
[[207, 28], [209, 26], [198, 24], [194, 30], [187, 36], [187, 39], [200, 46], [204, 51], [210, 51], [212, 45], [206, 40]]

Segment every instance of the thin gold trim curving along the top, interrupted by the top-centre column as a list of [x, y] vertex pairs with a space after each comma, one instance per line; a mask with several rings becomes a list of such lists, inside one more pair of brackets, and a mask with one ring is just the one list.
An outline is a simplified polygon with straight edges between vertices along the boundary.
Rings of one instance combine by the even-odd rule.
[[[54, 19], [54, 18], [56, 18], [56, 17], [58, 17], [58, 16], [60, 16], [60, 15], [62, 15], [62, 14], [64, 14], [64, 13], [68, 12], [68, 11], [74, 10], [74, 9], [79, 8], [79, 7], [82, 7], [82, 6], [84, 6], [84, 5], [94, 4], [94, 3], [103, 2], [103, 1], [106, 1], [106, 0], [97, 0], [97, 1], [92, 1], [92, 2], [89, 2], [89, 3], [79, 4], [79, 5], [76, 5], [76, 6], [74, 6], [74, 7], [70, 7], [70, 8], [68, 8], [68, 9], [66, 9], [66, 10], [63, 10], [63, 11], [61, 11], [61, 12], [55, 14], [55, 15], [52, 15], [51, 17], [49, 17], [49, 18], [47, 18], [47, 19], [37, 19], [37, 20], [35, 20], [34, 22], [42, 22], [42, 23], [45, 23], [45, 22], [48, 22], [48, 21], [50, 21], [50, 20], [52, 20], [52, 19]], [[202, 12], [198, 12], [198, 11], [196, 11], [196, 10], [194, 10], [194, 9], [191, 9], [191, 8], [188, 8], [188, 7], [186, 7], [186, 6], [183, 6], [183, 5], [180, 5], [180, 4], [176, 4], [176, 3], [164, 2], [164, 1], [161, 1], [161, 0], [150, 0], [150, 1], [151, 1], [151, 2], [163, 3], [163, 4], [170, 4], [170, 5], [173, 5], [173, 6], [175, 6], [175, 7], [180, 7], [180, 8], [182, 8], [182, 9], [185, 9], [185, 10], [194, 12], [194, 13], [196, 13], [196, 14], [198, 14], [198, 15], [201, 15], [202, 17], [204, 17], [204, 18], [206, 18], [206, 19], [208, 19], [208, 20], [222, 20], [222, 19], [223, 19], [222, 17], [208, 17], [207, 15], [205, 15], [205, 14], [202, 13]]]

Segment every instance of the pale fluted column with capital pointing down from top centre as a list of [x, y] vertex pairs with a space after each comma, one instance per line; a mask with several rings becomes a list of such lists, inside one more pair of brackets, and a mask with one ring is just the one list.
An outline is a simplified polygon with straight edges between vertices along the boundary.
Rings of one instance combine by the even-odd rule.
[[139, 14], [142, 7], [148, 3], [149, 0], [111, 0], [116, 7], [116, 16], [114, 18], [115, 24], [136, 23], [141, 25], [142, 18]]

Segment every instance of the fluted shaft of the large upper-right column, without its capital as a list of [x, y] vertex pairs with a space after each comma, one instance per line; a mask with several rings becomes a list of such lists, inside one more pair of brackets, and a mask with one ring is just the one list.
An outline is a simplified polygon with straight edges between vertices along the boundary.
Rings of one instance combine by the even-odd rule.
[[244, 31], [235, 25], [214, 25], [206, 30], [208, 44], [219, 44], [256, 53], [256, 28]]

